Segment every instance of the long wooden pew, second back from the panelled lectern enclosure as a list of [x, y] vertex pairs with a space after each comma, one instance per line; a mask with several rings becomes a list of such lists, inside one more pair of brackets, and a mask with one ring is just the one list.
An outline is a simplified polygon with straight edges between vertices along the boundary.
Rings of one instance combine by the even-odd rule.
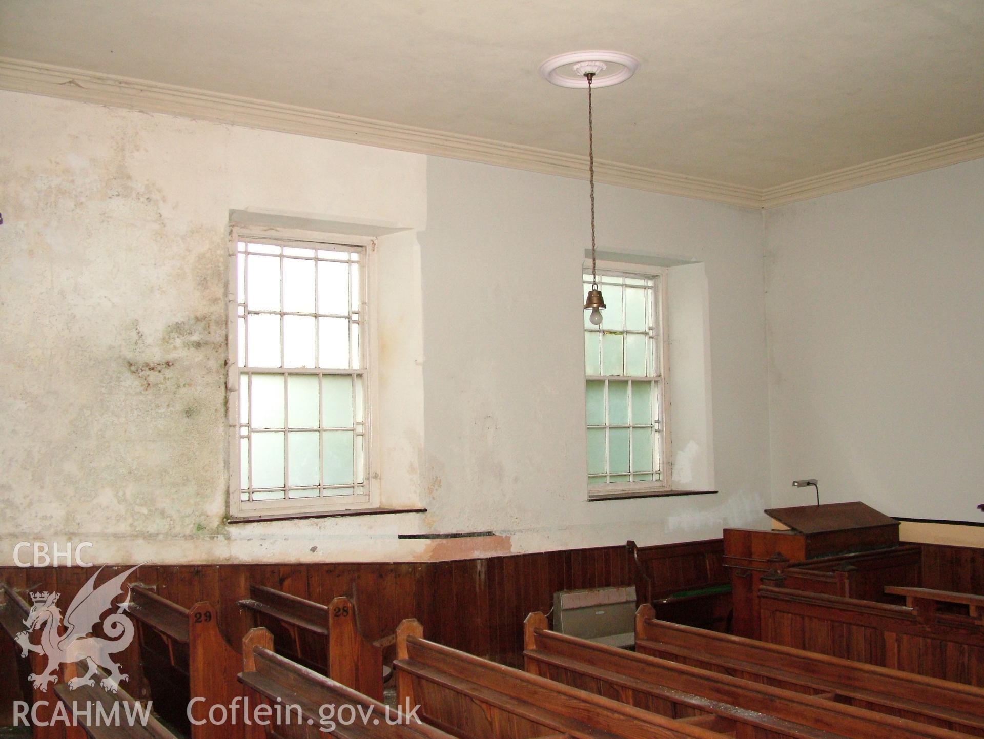
[[670, 717], [710, 711], [745, 737], [902, 739], [964, 736], [827, 698], [807, 696], [547, 629], [542, 613], [524, 622], [526, 669]]

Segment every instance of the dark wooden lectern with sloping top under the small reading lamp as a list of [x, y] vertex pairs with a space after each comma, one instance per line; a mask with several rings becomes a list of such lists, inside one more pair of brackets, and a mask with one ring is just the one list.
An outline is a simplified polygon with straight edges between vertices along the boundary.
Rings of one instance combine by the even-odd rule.
[[780, 580], [793, 565], [838, 560], [898, 547], [898, 522], [864, 503], [773, 508], [766, 511], [771, 530], [724, 529], [724, 567], [731, 576], [733, 631], [759, 636], [759, 586]]

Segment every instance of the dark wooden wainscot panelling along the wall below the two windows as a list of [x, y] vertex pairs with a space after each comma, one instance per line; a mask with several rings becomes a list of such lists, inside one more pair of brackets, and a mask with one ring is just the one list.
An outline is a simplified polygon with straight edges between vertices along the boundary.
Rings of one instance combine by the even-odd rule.
[[[715, 539], [642, 547], [640, 552], [661, 562], [664, 567], [660, 572], [674, 573], [665, 585], [676, 587], [707, 585], [706, 565], [695, 570], [693, 563], [710, 562], [710, 572], [715, 573], [720, 547], [720, 539]], [[106, 582], [125, 569], [106, 567], [99, 574], [99, 582]], [[61, 593], [59, 602], [68, 603], [93, 572], [88, 568], [0, 568], [0, 582], [10, 585], [29, 602], [29, 591], [48, 590]], [[252, 585], [323, 607], [337, 597], [352, 599], [359, 639], [382, 651], [387, 663], [394, 658], [394, 634], [400, 621], [415, 618], [436, 642], [518, 665], [522, 664], [523, 617], [530, 611], [549, 610], [555, 591], [633, 585], [634, 576], [629, 552], [620, 545], [440, 562], [149, 564], [142, 565], [128, 582], [142, 586], [145, 603], [154, 602], [144, 613], [154, 610], [158, 598], [166, 601], [173, 613], [161, 614], [160, 624], [172, 632], [182, 631], [177, 625], [180, 622], [184, 623], [183, 631], [187, 631], [187, 612], [197, 603], [205, 604], [203, 607], [210, 608], [213, 614], [210, 623], [217, 621], [218, 638], [235, 648], [255, 625], [251, 609], [239, 602], [252, 598]], [[141, 648], [135, 639], [119, 655], [130, 675], [127, 692], [136, 700], [151, 698], [152, 681], [158, 683], [158, 692], [165, 690], [159, 683], [167, 680], [168, 692], [176, 695], [182, 685], [183, 692], [189, 690], [186, 674], [175, 669], [168, 651], [171, 647], [176, 658], [187, 660], [188, 645], [183, 639], [175, 639], [175, 634], [168, 635], [167, 628], [142, 628], [145, 647], [155, 647], [155, 651]], [[21, 700], [24, 686], [15, 675], [18, 670], [30, 668], [24, 661], [19, 663], [8, 636], [0, 633], [0, 640], [2, 710], [14, 700]], [[298, 637], [299, 647], [310, 659], [314, 647], [304, 640], [305, 637]]]

